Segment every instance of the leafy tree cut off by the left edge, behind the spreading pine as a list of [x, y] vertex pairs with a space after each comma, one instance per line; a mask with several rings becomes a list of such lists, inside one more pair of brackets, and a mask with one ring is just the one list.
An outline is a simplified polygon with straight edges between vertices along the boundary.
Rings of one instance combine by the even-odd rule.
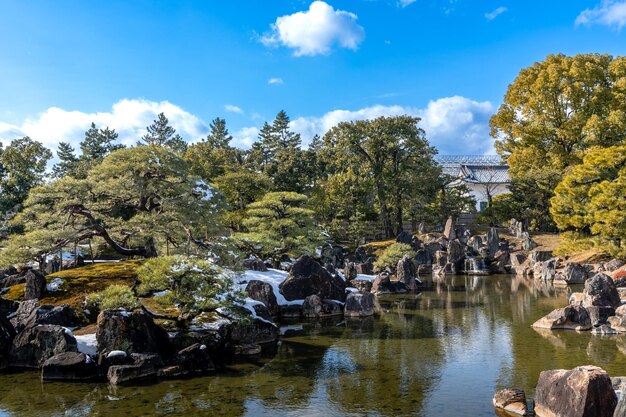
[[0, 211], [14, 211], [31, 188], [43, 184], [52, 152], [28, 136], [11, 141], [0, 153]]

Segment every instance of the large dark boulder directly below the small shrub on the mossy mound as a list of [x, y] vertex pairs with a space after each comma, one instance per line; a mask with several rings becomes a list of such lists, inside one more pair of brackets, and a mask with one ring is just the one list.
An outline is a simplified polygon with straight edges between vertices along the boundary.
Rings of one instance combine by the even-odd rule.
[[167, 332], [143, 312], [101, 312], [98, 315], [96, 340], [100, 354], [121, 350], [128, 354], [150, 352], [166, 357], [171, 353]]

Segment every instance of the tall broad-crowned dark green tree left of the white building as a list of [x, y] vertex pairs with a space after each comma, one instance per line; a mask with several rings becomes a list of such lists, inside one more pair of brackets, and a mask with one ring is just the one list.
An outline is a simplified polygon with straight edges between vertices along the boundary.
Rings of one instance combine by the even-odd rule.
[[387, 237], [402, 231], [407, 208], [426, 206], [437, 191], [436, 151], [418, 122], [410, 116], [343, 122], [324, 137], [322, 158], [330, 178], [358, 184], [360, 192], [371, 190], [367, 195], [374, 197]]

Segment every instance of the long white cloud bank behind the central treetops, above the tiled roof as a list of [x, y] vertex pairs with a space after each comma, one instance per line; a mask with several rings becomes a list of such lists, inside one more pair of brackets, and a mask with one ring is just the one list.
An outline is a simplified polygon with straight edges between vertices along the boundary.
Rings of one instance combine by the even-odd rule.
[[493, 139], [489, 136], [489, 118], [493, 111], [494, 106], [488, 101], [454, 96], [430, 101], [424, 109], [377, 105], [356, 111], [333, 110], [321, 117], [294, 119], [291, 128], [308, 141], [315, 134], [325, 134], [340, 122], [407, 114], [422, 119], [419, 126], [440, 153], [489, 154], [494, 153]]

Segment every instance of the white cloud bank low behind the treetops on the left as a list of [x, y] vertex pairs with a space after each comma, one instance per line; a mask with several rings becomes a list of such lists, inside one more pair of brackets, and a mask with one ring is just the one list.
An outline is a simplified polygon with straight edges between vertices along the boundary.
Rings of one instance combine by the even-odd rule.
[[121, 143], [134, 145], [159, 113], [164, 113], [176, 131], [190, 142], [199, 140], [208, 132], [204, 121], [168, 101], [123, 99], [107, 112], [83, 113], [50, 107], [37, 117], [26, 119], [20, 126], [0, 122], [0, 141], [6, 145], [12, 139], [30, 136], [50, 149], [56, 150], [59, 141], [78, 148], [85, 131], [94, 122], [99, 128], [115, 129]]

